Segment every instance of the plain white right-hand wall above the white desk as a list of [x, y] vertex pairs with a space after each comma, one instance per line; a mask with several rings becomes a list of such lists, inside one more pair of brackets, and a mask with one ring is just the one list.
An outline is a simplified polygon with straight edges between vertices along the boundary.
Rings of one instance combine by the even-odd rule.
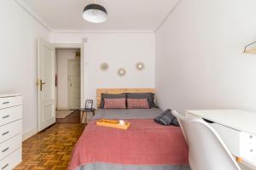
[[256, 1], [182, 0], [156, 31], [156, 90], [163, 109], [256, 111]]

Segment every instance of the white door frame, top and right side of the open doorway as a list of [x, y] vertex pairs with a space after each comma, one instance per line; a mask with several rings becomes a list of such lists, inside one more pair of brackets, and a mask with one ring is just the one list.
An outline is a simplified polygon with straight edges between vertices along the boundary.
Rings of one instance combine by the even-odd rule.
[[80, 77], [81, 77], [81, 101], [80, 107], [84, 104], [84, 43], [53, 43], [55, 48], [79, 48], [80, 49]]

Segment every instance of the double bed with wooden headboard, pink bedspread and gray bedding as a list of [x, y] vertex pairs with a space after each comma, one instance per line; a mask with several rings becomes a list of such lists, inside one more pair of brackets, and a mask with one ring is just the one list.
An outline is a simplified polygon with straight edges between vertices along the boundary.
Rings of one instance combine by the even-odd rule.
[[[102, 94], [147, 93], [154, 89], [97, 89]], [[73, 149], [69, 170], [190, 170], [188, 148], [180, 127], [154, 122], [151, 109], [98, 109]], [[131, 122], [128, 130], [96, 126], [99, 119]]]

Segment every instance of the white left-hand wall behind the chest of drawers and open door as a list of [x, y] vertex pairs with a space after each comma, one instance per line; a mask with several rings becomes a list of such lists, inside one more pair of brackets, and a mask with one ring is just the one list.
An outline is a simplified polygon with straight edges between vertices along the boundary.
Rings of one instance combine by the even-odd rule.
[[0, 2], [0, 93], [23, 94], [23, 132], [38, 129], [37, 37], [49, 32], [13, 0]]

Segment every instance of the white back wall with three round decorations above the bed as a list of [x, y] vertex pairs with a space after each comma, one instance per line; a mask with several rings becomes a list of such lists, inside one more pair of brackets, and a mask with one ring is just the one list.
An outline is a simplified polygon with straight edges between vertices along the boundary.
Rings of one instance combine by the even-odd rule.
[[[84, 96], [96, 101], [96, 88], [154, 88], [154, 33], [54, 33], [51, 42], [84, 43]], [[137, 71], [136, 63], [142, 61], [145, 70]], [[102, 62], [109, 70], [101, 71]], [[120, 67], [126, 69], [119, 77]], [[95, 102], [96, 105], [96, 102]]]

